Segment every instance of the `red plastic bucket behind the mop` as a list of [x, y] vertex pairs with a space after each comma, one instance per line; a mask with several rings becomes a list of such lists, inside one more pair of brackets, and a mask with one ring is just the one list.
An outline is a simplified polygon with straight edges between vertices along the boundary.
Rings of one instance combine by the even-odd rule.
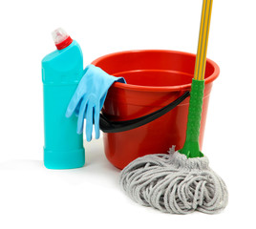
[[[156, 112], [191, 88], [196, 55], [174, 51], [116, 52], [97, 58], [93, 64], [106, 73], [123, 76], [127, 84], [115, 83], [106, 97], [103, 114], [123, 121]], [[212, 82], [220, 69], [207, 59], [200, 145]], [[189, 97], [167, 114], [134, 130], [104, 133], [108, 160], [123, 169], [132, 160], [149, 154], [164, 154], [173, 145], [181, 149], [185, 140]]]

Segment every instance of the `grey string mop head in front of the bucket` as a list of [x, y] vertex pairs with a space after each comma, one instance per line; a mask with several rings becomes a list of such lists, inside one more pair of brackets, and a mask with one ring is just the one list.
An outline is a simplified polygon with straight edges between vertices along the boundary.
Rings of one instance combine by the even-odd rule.
[[224, 209], [227, 189], [209, 168], [207, 157], [187, 158], [174, 148], [169, 153], [142, 156], [126, 166], [120, 175], [126, 194], [164, 213], [215, 214]]

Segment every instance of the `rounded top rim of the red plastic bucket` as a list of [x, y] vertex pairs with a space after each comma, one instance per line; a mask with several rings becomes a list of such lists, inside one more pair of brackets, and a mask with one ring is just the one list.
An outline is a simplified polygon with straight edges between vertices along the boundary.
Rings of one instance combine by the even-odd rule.
[[[181, 51], [172, 51], [172, 50], [131, 50], [131, 51], [121, 51], [121, 52], [112, 52], [109, 54], [102, 55], [96, 60], [92, 62], [93, 65], [96, 65], [101, 60], [112, 57], [114, 55], [119, 54], [127, 54], [127, 53], [135, 53], [135, 52], [171, 52], [176, 54], [185, 54], [192, 57], [196, 57], [195, 53], [191, 52], [181, 52]], [[211, 59], [206, 58], [206, 62], [213, 66], [214, 72], [207, 78], [204, 79], [205, 84], [212, 83], [220, 74], [220, 67]], [[141, 85], [134, 85], [134, 84], [124, 84], [116, 82], [114, 83], [113, 87], [123, 90], [132, 90], [132, 91], [139, 91], [139, 92], [181, 92], [181, 91], [187, 91], [191, 89], [191, 83], [189, 84], [183, 84], [178, 86], [162, 86], [162, 87], [154, 87], [154, 86], [141, 86]]]

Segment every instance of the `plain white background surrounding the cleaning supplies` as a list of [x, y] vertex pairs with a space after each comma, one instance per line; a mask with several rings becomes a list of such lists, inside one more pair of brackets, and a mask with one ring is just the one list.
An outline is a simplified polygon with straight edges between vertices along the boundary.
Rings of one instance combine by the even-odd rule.
[[[13, 0], [0, 3], [0, 228], [255, 228], [255, 0], [215, 0], [207, 56], [214, 82], [203, 153], [224, 178], [221, 214], [168, 215], [121, 192], [102, 139], [85, 142], [82, 169], [43, 166], [41, 59], [62, 27], [84, 65], [109, 52], [196, 52], [202, 0]], [[171, 131], [171, 130], [170, 130]]]

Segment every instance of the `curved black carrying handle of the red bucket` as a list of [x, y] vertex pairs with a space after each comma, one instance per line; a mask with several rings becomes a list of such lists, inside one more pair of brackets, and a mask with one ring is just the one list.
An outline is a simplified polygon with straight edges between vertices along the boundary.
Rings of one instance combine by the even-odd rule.
[[154, 121], [163, 114], [166, 114], [176, 108], [181, 102], [190, 95], [189, 92], [185, 92], [179, 98], [168, 104], [167, 106], [161, 108], [160, 110], [152, 113], [141, 116], [127, 121], [110, 121], [104, 114], [100, 114], [99, 117], [99, 128], [104, 133], [119, 133], [130, 131], [136, 129], [140, 126], [143, 126], [149, 122]]

